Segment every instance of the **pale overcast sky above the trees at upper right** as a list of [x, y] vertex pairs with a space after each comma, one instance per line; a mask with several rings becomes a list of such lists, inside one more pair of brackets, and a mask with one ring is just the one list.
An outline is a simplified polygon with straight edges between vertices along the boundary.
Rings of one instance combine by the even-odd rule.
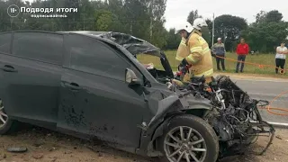
[[[275, 3], [274, 3], [275, 2]], [[231, 14], [243, 17], [247, 23], [255, 22], [255, 16], [261, 10], [278, 10], [288, 22], [287, 0], [167, 0], [166, 29], [174, 28], [177, 23], [186, 21], [191, 11], [198, 10], [204, 18], [212, 19], [221, 14]]]

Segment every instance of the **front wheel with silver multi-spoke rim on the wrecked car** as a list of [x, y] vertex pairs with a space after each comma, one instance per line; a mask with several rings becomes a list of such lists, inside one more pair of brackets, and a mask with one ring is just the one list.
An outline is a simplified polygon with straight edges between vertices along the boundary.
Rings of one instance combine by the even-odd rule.
[[[182, 140], [184, 142], [179, 140], [181, 139], [181, 130], [183, 132], [183, 139], [186, 139]], [[187, 140], [190, 131], [193, 133], [191, 133], [191, 137]], [[174, 139], [171, 138], [169, 134], [172, 134]], [[177, 142], [175, 139], [180, 142]], [[198, 142], [193, 144], [195, 141]], [[167, 142], [170, 144], [166, 144]], [[171, 143], [173, 147], [170, 146]], [[163, 136], [159, 140], [159, 144], [164, 155], [161, 161], [166, 162], [176, 162], [180, 155], [183, 157], [180, 161], [184, 162], [196, 161], [193, 157], [196, 157], [199, 162], [215, 162], [219, 155], [219, 140], [215, 131], [211, 128], [211, 125], [209, 125], [207, 121], [190, 114], [173, 118], [169, 125], [167, 125]], [[202, 148], [206, 151], [200, 149], [195, 150], [194, 148]], [[168, 155], [172, 155], [175, 152], [177, 153], [173, 157], [168, 157]], [[193, 157], [191, 155], [193, 155]], [[187, 157], [189, 160], [186, 160]]]

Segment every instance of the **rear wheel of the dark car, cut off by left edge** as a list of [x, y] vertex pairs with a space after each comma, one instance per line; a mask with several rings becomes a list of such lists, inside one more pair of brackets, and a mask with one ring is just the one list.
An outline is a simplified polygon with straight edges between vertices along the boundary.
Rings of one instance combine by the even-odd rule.
[[5, 121], [5, 123], [0, 121], [0, 135], [9, 134], [16, 130], [17, 127], [16, 121], [9, 119], [9, 117], [3, 116], [3, 113], [5, 114], [4, 104], [0, 99], [0, 118], [2, 117], [2, 119]]

